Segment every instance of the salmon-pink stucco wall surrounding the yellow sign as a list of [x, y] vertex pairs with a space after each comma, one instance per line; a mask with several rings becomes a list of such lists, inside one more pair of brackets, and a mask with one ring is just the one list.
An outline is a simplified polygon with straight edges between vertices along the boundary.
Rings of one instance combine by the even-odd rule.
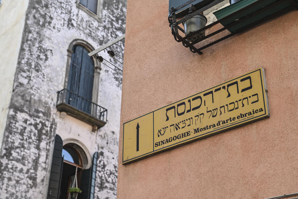
[[[168, 0], [128, 0], [117, 197], [267, 198], [298, 192], [298, 11], [193, 54]], [[122, 165], [123, 123], [263, 67], [270, 118]]]

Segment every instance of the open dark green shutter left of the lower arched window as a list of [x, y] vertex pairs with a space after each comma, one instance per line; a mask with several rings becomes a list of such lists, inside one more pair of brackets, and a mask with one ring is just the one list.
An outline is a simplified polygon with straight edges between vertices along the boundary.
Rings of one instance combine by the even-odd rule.
[[62, 139], [59, 135], [56, 135], [47, 199], [58, 199], [59, 197], [59, 189], [63, 167], [62, 149]]

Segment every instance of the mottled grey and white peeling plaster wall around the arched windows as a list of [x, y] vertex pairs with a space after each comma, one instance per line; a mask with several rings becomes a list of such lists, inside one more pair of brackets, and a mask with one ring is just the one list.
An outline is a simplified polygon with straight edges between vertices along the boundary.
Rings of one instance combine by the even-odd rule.
[[[99, 22], [76, 0], [30, 0], [0, 154], [1, 199], [47, 197], [56, 134], [99, 152], [94, 198], [116, 198], [122, 76], [101, 65], [98, 104], [108, 121], [97, 132], [55, 107], [71, 41], [98, 48], [125, 33], [126, 0], [103, 0], [101, 9]], [[112, 50], [123, 55], [124, 42]]]

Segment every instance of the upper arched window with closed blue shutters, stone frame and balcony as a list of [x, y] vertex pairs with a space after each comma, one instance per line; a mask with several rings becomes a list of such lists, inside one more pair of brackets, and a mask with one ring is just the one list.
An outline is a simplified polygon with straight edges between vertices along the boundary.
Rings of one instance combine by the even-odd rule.
[[57, 111], [93, 126], [96, 131], [107, 122], [108, 110], [98, 105], [100, 62], [88, 53], [94, 48], [75, 39], [67, 49], [64, 88], [57, 93]]

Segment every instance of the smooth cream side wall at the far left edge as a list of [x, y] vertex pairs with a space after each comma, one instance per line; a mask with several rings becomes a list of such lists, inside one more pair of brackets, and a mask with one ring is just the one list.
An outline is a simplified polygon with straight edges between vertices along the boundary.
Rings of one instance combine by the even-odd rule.
[[2, 0], [0, 5], [0, 151], [29, 0]]

